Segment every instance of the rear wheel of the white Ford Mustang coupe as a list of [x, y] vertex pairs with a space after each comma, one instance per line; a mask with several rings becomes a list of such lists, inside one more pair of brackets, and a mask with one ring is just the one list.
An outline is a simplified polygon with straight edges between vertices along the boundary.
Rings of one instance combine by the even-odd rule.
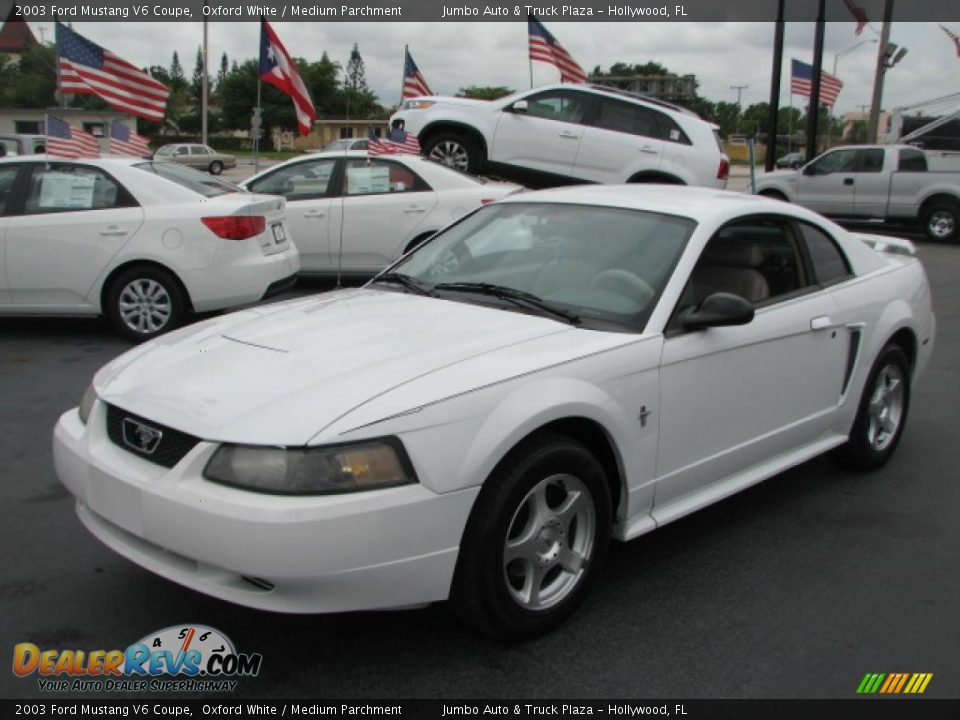
[[910, 361], [898, 345], [880, 351], [850, 430], [834, 457], [853, 470], [876, 470], [893, 455], [910, 407]]

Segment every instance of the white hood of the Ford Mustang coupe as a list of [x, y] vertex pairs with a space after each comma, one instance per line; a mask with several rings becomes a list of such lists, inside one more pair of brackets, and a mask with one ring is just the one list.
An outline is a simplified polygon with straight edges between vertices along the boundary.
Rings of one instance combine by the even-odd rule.
[[303, 445], [412, 380], [570, 330], [488, 307], [351, 290], [185, 328], [117, 358], [94, 384], [105, 402], [206, 440]]

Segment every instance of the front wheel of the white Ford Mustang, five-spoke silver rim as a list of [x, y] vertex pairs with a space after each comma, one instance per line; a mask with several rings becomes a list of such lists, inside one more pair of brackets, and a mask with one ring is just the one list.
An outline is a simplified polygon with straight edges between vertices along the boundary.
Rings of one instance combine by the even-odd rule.
[[566, 619], [610, 540], [603, 467], [562, 435], [522, 443], [488, 478], [470, 514], [450, 600], [467, 623], [519, 640]]

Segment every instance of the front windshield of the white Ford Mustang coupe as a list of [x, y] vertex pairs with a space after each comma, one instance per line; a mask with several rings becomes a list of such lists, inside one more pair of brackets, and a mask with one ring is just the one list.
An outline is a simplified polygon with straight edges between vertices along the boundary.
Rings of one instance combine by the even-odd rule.
[[447, 299], [505, 304], [490, 290], [501, 287], [540, 301], [545, 316], [562, 311], [585, 327], [635, 331], [653, 312], [694, 227], [686, 218], [623, 208], [492, 205], [391, 270]]

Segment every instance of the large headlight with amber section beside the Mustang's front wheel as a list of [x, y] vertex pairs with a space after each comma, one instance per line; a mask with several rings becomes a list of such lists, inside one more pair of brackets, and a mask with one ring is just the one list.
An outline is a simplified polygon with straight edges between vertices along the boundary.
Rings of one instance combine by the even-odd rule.
[[275, 495], [335, 495], [417, 482], [393, 437], [317, 448], [222, 445], [203, 476]]

